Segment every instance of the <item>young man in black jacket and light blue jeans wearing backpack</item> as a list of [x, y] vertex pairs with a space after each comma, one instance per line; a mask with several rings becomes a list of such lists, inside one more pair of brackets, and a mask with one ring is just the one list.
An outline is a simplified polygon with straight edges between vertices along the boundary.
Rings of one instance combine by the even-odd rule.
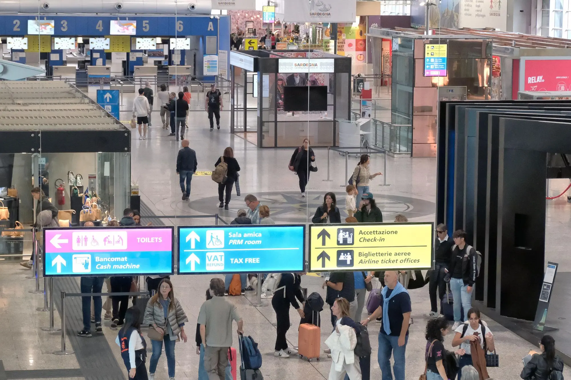
[[[450, 261], [450, 290], [454, 297], [454, 325], [452, 330], [456, 330], [464, 322], [460, 315], [460, 308], [468, 312], [472, 308], [472, 293], [476, 283], [476, 250], [466, 244], [467, 234], [463, 230], [457, 230], [452, 235], [454, 246], [452, 246], [452, 259]], [[465, 318], [465, 317], [464, 317]]]

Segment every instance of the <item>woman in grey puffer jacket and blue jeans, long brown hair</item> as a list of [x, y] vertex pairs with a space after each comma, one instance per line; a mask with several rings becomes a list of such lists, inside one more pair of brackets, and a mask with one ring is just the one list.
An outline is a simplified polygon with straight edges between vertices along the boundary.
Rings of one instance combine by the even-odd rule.
[[159, 361], [160, 353], [163, 349], [167, 355], [168, 378], [175, 378], [175, 341], [180, 334], [180, 338], [186, 342], [184, 333], [184, 322], [188, 322], [184, 310], [179, 301], [174, 296], [172, 283], [168, 279], [163, 279], [159, 283], [158, 291], [148, 301], [144, 312], [143, 325], [150, 325], [163, 336], [162, 341], [151, 340], [152, 355], [149, 363], [149, 379], [155, 379], [156, 364]]

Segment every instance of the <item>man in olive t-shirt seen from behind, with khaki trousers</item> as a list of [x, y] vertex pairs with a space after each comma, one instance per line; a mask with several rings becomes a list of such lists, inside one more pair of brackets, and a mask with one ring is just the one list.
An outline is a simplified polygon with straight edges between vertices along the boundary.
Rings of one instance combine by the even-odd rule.
[[210, 380], [223, 379], [228, 365], [228, 349], [232, 346], [232, 321], [243, 334], [243, 321], [235, 305], [224, 299], [224, 281], [210, 280], [212, 299], [200, 307], [198, 324], [204, 346], [204, 370]]

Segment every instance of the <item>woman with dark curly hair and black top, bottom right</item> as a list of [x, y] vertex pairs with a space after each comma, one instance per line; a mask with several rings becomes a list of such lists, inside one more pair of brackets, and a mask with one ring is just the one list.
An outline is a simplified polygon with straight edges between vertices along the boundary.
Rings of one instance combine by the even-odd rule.
[[[447, 374], [444, 361], [447, 350], [444, 349], [444, 337], [450, 331], [450, 323], [444, 317], [431, 319], [427, 323], [427, 330], [424, 337], [427, 345], [424, 349], [424, 359], [427, 363], [427, 380], [448, 380], [456, 377], [456, 374]], [[464, 349], [454, 352], [457, 355], [464, 355]]]

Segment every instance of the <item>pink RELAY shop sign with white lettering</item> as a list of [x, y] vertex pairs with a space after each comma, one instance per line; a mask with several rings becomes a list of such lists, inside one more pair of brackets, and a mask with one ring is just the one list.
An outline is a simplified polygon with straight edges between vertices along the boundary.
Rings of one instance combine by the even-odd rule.
[[520, 71], [520, 88], [523, 91], [571, 91], [570, 59], [561, 57], [522, 61], [524, 64]]

